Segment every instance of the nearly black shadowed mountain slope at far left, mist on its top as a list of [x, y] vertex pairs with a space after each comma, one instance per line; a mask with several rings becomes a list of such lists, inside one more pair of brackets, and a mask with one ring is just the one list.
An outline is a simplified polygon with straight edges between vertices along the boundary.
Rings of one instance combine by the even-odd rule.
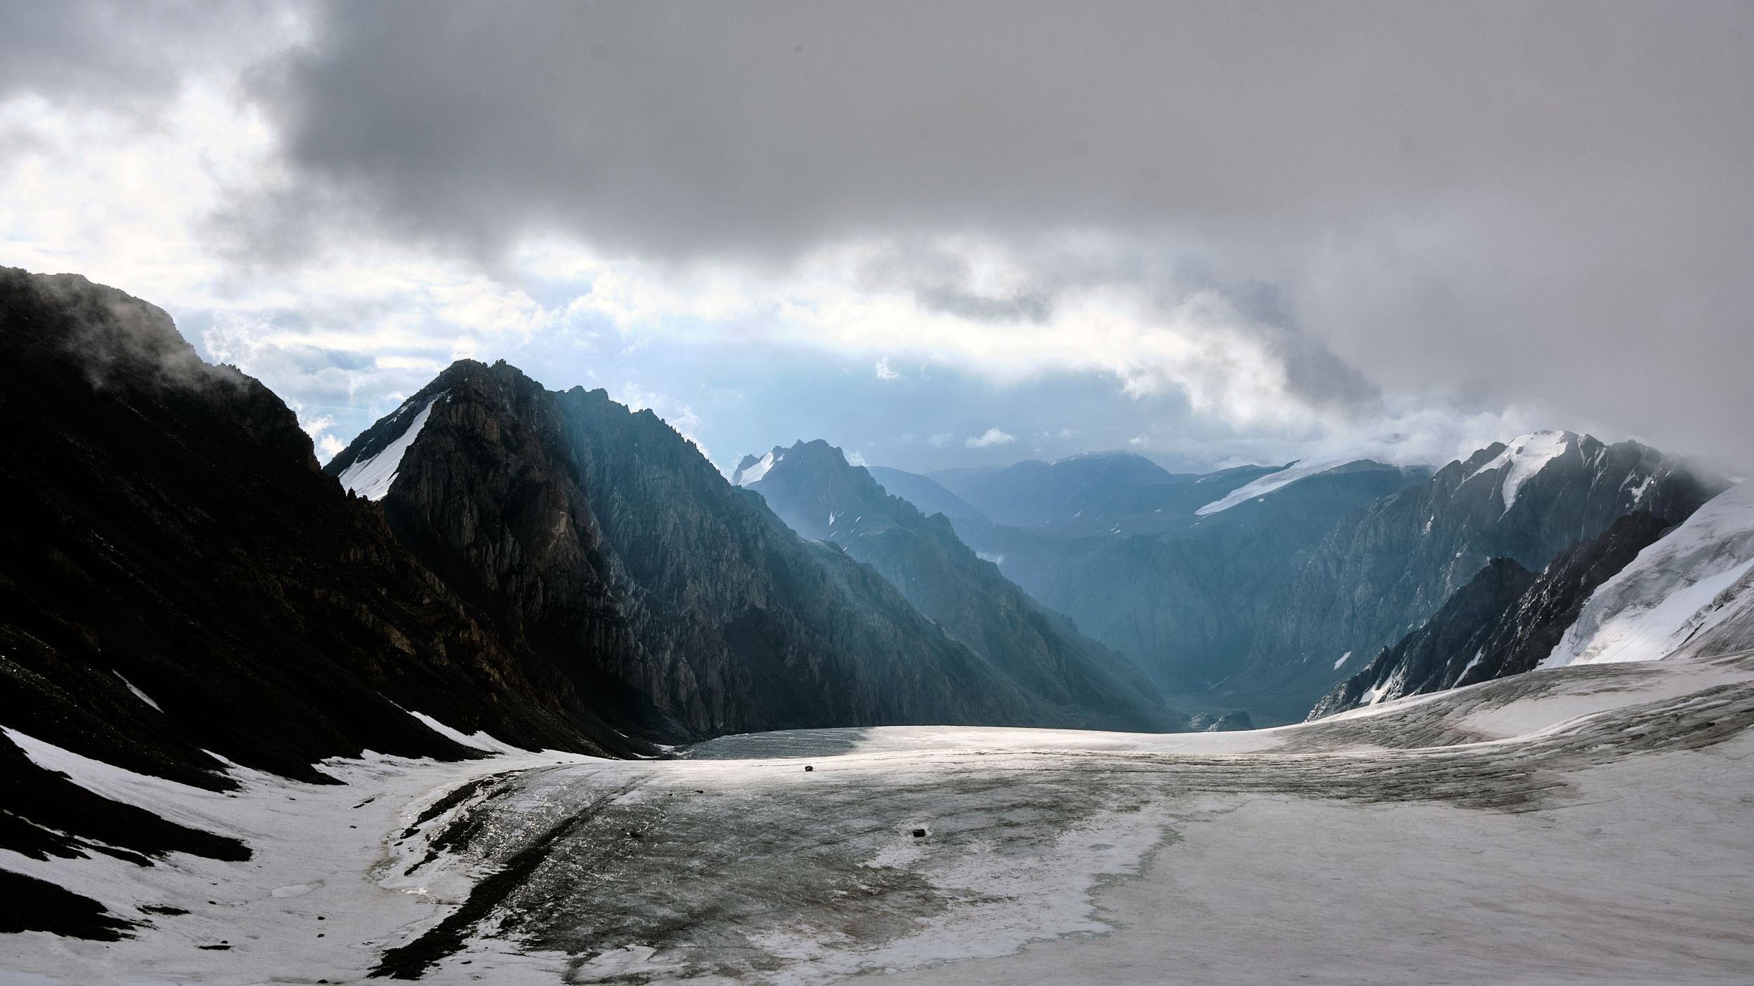
[[[18, 735], [216, 791], [237, 788], [230, 765], [321, 784], [317, 761], [367, 749], [481, 756], [454, 739], [481, 730], [652, 751], [533, 679], [375, 505], [317, 468], [274, 393], [203, 363], [139, 298], [0, 268], [0, 428], [7, 849], [139, 865], [251, 853], [37, 767]], [[4, 875], [12, 907], [118, 932], [77, 895]]]

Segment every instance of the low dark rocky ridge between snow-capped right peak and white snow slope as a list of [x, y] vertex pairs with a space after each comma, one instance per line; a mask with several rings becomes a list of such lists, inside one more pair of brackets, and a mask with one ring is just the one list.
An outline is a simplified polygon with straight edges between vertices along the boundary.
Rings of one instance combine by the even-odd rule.
[[1533, 670], [1591, 593], [1668, 528], [1656, 514], [1635, 511], [1601, 537], [1559, 553], [1540, 575], [1493, 558], [1431, 619], [1328, 691], [1310, 718]]

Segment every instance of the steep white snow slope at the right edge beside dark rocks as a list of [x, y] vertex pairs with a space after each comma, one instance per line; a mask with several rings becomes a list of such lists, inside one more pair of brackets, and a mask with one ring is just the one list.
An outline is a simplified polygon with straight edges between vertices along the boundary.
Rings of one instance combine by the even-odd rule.
[[1596, 586], [1542, 667], [1649, 661], [1754, 605], [1754, 484], [1719, 493]]

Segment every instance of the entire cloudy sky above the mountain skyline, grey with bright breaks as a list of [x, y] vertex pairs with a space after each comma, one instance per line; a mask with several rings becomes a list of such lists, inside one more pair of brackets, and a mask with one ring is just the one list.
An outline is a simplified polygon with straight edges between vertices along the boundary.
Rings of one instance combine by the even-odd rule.
[[0, 0], [0, 263], [326, 458], [460, 356], [728, 468], [1754, 458], [1754, 4]]

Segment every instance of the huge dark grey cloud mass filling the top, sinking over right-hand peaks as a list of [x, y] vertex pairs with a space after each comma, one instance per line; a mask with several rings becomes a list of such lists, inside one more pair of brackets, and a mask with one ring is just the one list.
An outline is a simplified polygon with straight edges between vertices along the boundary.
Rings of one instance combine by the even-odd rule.
[[[256, 74], [293, 182], [232, 219], [272, 256], [360, 218], [477, 258], [545, 232], [766, 265], [973, 233], [1040, 282], [912, 291], [1028, 319], [1070, 279], [1158, 282], [1161, 247], [1170, 288], [1261, 312], [1300, 393], [1522, 404], [1754, 453], [1749, 4], [374, 2], [317, 21]], [[1068, 232], [1137, 249], [1040, 249]]]

